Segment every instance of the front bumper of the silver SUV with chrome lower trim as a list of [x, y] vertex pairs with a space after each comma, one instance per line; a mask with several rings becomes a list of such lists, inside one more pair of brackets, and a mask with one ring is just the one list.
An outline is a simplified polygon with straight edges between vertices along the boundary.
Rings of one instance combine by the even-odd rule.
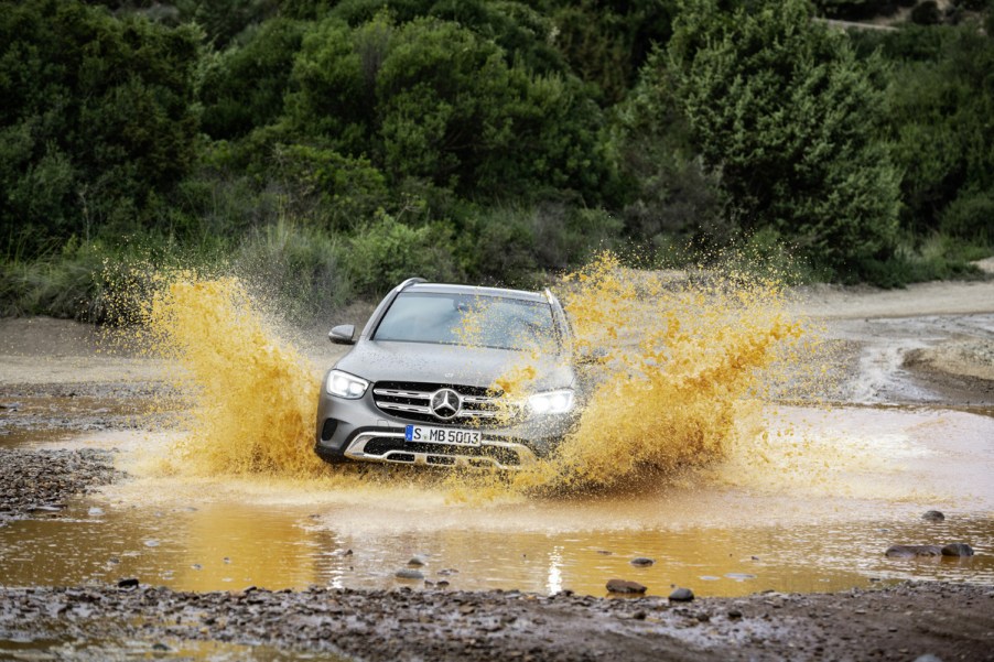
[[376, 406], [370, 392], [357, 400], [322, 392], [314, 451], [333, 464], [375, 462], [519, 469], [547, 456], [573, 428], [576, 420], [574, 410], [569, 414], [536, 416], [508, 426], [472, 427], [480, 432], [478, 446], [406, 442], [404, 430], [409, 424], [466, 427], [443, 422], [415, 423], [386, 414]]

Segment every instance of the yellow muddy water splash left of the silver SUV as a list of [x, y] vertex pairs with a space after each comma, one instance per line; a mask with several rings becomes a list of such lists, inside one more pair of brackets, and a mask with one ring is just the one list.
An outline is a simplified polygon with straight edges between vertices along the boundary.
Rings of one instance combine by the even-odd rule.
[[143, 307], [152, 347], [194, 393], [172, 458], [205, 475], [314, 476], [317, 383], [303, 357], [267, 324], [240, 281], [183, 272]]

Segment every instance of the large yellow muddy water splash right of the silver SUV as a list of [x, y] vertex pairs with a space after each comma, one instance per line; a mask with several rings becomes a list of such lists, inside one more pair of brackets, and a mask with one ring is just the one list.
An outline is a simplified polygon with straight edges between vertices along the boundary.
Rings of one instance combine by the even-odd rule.
[[601, 357], [597, 386], [576, 432], [518, 486], [673, 477], [759, 434], [760, 398], [781, 381], [770, 368], [803, 336], [778, 281], [674, 279], [605, 253], [564, 286], [577, 351]]

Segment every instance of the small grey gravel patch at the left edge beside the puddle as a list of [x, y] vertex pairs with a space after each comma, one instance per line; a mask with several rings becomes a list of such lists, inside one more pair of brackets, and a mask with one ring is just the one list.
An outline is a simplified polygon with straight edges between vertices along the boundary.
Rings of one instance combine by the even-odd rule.
[[[52, 517], [74, 496], [94, 491], [123, 475], [107, 451], [0, 448], [0, 527], [28, 517]], [[2, 582], [2, 577], [0, 577]]]

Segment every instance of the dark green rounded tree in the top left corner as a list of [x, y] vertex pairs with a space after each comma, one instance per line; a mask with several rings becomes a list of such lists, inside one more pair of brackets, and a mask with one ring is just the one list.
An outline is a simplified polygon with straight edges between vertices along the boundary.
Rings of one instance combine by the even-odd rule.
[[0, 4], [0, 236], [150, 223], [194, 160], [198, 35], [77, 2]]

